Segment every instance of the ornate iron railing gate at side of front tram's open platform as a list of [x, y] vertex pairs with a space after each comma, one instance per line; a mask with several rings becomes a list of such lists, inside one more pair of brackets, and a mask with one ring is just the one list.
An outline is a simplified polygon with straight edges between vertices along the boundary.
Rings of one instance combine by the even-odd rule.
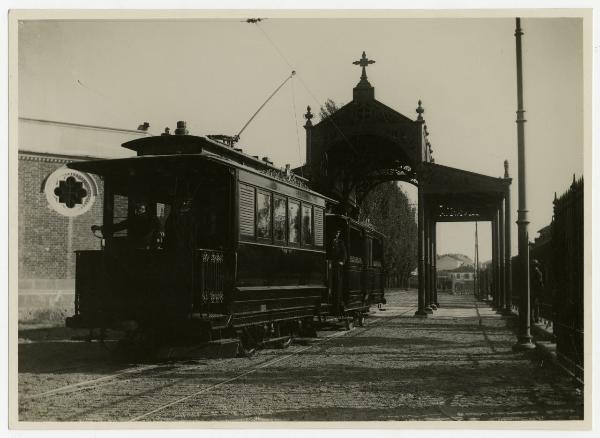
[[225, 253], [194, 251], [194, 311], [209, 313], [225, 301]]

